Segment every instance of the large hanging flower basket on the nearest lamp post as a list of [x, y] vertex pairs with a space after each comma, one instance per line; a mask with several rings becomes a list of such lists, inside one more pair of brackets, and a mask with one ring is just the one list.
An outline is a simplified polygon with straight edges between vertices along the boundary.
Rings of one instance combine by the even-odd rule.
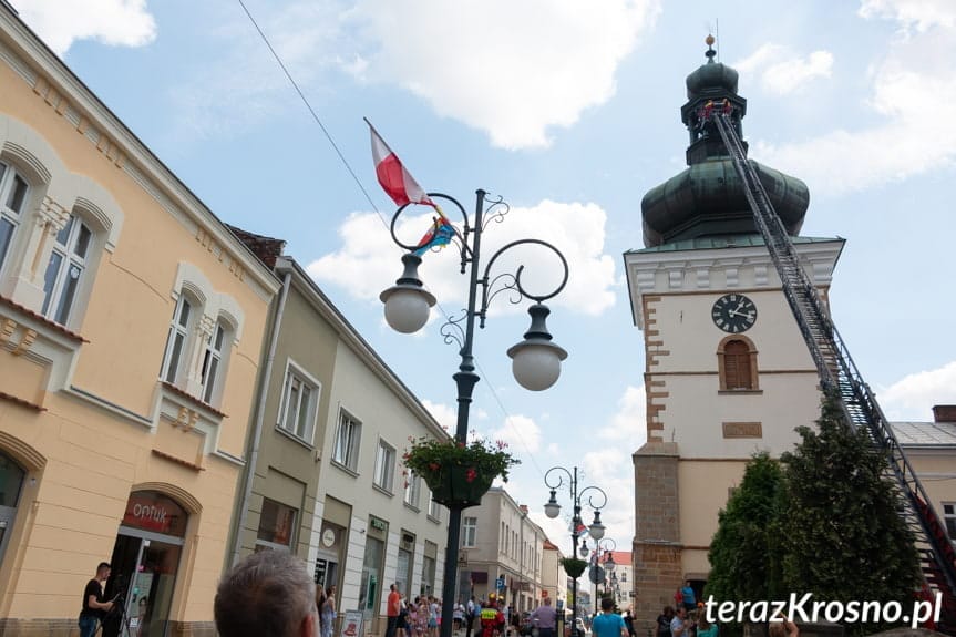
[[518, 463], [501, 441], [475, 439], [465, 444], [454, 439], [409, 438], [409, 442], [402, 463], [425, 481], [432, 500], [449, 508], [481, 504], [494, 479], [507, 482], [508, 469]]

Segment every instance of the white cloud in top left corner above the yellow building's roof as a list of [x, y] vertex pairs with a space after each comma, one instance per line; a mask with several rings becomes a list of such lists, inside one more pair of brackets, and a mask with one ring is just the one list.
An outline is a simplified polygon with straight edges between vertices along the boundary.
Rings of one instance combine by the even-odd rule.
[[78, 40], [113, 47], [143, 47], [156, 38], [146, 0], [19, 0], [20, 17], [62, 56]]

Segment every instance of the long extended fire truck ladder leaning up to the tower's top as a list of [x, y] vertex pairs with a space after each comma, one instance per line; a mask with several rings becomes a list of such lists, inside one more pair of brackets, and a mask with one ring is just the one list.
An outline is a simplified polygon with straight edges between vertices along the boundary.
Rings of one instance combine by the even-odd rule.
[[937, 630], [956, 635], [956, 551], [953, 543], [903, 453], [883, 410], [876, 403], [876, 397], [853, 363], [816, 288], [800, 266], [793, 243], [773, 209], [757, 172], [747, 160], [729, 114], [715, 112], [711, 120], [740, 178], [743, 179], [747, 201], [780, 276], [783, 294], [816, 364], [824, 391], [840, 398], [846, 421], [856, 428], [863, 428], [873, 444], [887, 455], [887, 470], [892, 471], [908, 504], [902, 507], [903, 517], [916, 538], [924, 578], [943, 595], [943, 613]]

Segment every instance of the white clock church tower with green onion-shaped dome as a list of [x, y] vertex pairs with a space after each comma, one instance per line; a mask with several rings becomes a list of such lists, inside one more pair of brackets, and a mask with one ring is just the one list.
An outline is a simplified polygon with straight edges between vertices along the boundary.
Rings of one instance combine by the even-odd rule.
[[[647, 391], [647, 443], [634, 453], [641, 626], [674, 605], [686, 579], [700, 593], [718, 511], [753, 453], [780, 455], [798, 441], [794, 429], [820, 413], [816, 369], [708, 119], [726, 110], [742, 136], [747, 101], [737, 71], [715, 61], [712, 38], [707, 43], [680, 109], [688, 168], [644, 196], [645, 247], [624, 255]], [[799, 236], [806, 185], [750, 161], [825, 300], [843, 239]]]

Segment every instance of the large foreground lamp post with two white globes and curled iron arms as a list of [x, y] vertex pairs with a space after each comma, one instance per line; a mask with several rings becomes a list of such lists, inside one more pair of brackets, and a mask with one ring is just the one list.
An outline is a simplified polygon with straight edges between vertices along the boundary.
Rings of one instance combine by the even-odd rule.
[[[551, 314], [543, 301], [555, 297], [567, 284], [568, 268], [564, 255], [553, 245], [541, 239], [518, 239], [498, 249], [489, 259], [484, 270], [481, 270], [481, 238], [485, 226], [492, 219], [501, 222], [507, 214], [508, 207], [501, 198], [489, 198], [485, 191], [475, 192], [476, 203], [474, 212], [474, 225], [469, 219], [464, 207], [449, 195], [441, 193], [429, 193], [432, 201], [443, 199], [450, 202], [461, 213], [463, 228], [455, 230], [453, 243], [459, 248], [461, 257], [461, 274], [469, 274], [467, 309], [456, 317], [450, 318], [441, 328], [445, 342], [456, 342], [460, 347], [461, 363], [459, 371], [452, 377], [458, 388], [458, 421], [455, 424], [455, 440], [460, 443], [467, 442], [469, 409], [472, 402], [474, 386], [480, 380], [475, 373], [472, 346], [474, 342], [475, 318], [480, 319], [479, 327], [484, 328], [485, 317], [491, 300], [502, 291], [511, 294], [512, 302], [522, 299], [533, 300], [528, 308], [531, 315], [531, 327], [524, 335], [524, 340], [507, 350], [512, 358], [512, 372], [517, 382], [530, 390], [541, 391], [549, 388], [557, 381], [561, 374], [561, 361], [567, 358], [567, 352], [552, 342], [552, 336], [545, 326], [545, 319]], [[485, 209], [485, 204], [489, 204]], [[380, 295], [384, 304], [386, 321], [397, 331], [412, 333], [421, 329], [429, 319], [429, 308], [435, 304], [435, 297], [424, 289], [424, 284], [418, 275], [418, 267], [422, 263], [421, 257], [415, 254], [419, 246], [403, 244], [395, 236], [395, 224], [399, 216], [410, 204], [399, 207], [392, 216], [391, 235], [392, 240], [401, 248], [408, 250], [402, 255], [404, 271], [395, 281], [395, 285]], [[542, 246], [552, 250], [561, 260], [564, 269], [561, 284], [553, 291], [545, 295], [535, 295], [522, 286], [521, 276], [524, 266], [518, 266], [514, 274], [505, 273], [490, 276], [495, 260], [506, 250], [521, 245]], [[481, 273], [481, 276], [479, 276]], [[481, 289], [481, 302], [477, 292]], [[464, 327], [462, 327], [464, 323]], [[459, 543], [461, 540], [462, 510], [465, 505], [448, 505], [449, 531], [448, 546], [445, 548], [444, 582], [442, 585], [442, 624], [441, 637], [451, 637], [452, 620], [454, 616], [455, 585], [458, 579]]]

